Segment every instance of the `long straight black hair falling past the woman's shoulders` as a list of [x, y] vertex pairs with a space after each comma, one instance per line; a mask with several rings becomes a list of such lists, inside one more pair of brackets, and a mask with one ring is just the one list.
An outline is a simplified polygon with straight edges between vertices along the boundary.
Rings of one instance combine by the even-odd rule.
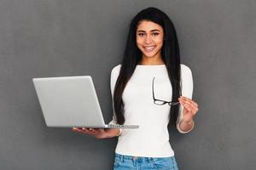
[[[137, 26], [143, 20], [149, 20], [162, 26], [164, 30], [164, 43], [161, 48], [161, 57], [166, 65], [166, 70], [168, 72], [170, 82], [172, 83], [172, 101], [177, 101], [177, 98], [181, 94], [180, 53], [177, 34], [172, 24], [172, 20], [170, 20], [167, 14], [158, 8], [145, 8], [140, 11], [133, 20], [131, 20], [125, 54], [113, 92], [113, 108], [119, 124], [125, 123], [122, 94], [127, 82], [135, 71], [138, 62], [142, 59], [142, 52], [137, 48], [136, 32]], [[178, 110], [179, 105], [172, 105], [169, 124], [175, 124], [175, 122], [177, 122]]]

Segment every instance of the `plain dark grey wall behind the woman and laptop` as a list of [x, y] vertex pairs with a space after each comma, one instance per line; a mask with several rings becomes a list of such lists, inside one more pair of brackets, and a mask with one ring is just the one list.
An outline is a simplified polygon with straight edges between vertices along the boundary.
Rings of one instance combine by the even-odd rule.
[[191, 133], [170, 130], [178, 166], [256, 167], [255, 1], [1, 0], [0, 169], [112, 168], [117, 139], [46, 127], [32, 77], [91, 75], [110, 121], [110, 71], [149, 6], [174, 22], [200, 105]]

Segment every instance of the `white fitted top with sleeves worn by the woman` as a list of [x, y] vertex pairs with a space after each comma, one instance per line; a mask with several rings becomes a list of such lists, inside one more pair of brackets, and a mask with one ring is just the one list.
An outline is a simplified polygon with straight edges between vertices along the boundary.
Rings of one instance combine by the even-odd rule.
[[[111, 71], [110, 88], [113, 100], [115, 82], [119, 77], [121, 65]], [[122, 129], [115, 152], [125, 156], [167, 157], [174, 156], [169, 143], [167, 125], [170, 105], [155, 105], [152, 82], [154, 78], [154, 98], [172, 101], [172, 84], [166, 65], [137, 65], [131, 79], [127, 82], [122, 96], [124, 102], [125, 124], [139, 125], [137, 129]], [[181, 64], [182, 95], [192, 99], [193, 78], [188, 66]], [[183, 132], [178, 122], [183, 119], [183, 105], [177, 117], [177, 130]], [[116, 124], [115, 113], [110, 124]]]

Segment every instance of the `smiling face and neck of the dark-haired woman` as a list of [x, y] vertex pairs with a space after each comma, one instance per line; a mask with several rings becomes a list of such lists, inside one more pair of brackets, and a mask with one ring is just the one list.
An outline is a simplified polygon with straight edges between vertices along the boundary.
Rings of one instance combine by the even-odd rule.
[[161, 60], [161, 48], [163, 47], [163, 28], [148, 20], [143, 20], [137, 26], [136, 41], [137, 48], [143, 53], [143, 59]]

